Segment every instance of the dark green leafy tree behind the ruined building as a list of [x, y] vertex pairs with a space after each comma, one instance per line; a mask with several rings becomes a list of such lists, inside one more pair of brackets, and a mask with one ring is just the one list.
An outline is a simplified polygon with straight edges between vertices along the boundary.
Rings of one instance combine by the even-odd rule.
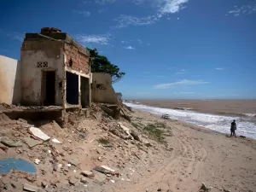
[[90, 51], [92, 73], [109, 73], [113, 84], [124, 77], [125, 73], [119, 72], [119, 67], [108, 61], [106, 56], [99, 55], [97, 49], [87, 49]]

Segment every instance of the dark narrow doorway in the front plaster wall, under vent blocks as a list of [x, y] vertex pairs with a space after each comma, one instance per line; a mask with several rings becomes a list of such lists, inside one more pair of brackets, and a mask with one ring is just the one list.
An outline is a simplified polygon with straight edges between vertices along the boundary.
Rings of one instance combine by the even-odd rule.
[[44, 106], [55, 105], [55, 72], [43, 72], [43, 102]]

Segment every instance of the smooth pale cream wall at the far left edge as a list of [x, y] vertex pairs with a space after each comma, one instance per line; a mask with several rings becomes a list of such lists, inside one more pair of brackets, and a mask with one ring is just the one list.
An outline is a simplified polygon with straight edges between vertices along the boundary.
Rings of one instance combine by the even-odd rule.
[[20, 102], [20, 61], [0, 55], [0, 102]]

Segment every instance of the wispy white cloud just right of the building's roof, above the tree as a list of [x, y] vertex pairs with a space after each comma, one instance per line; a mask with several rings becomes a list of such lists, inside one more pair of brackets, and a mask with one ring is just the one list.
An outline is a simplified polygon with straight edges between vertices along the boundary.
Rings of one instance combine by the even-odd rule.
[[110, 38], [108, 35], [76, 35], [75, 38], [81, 44], [108, 44]]

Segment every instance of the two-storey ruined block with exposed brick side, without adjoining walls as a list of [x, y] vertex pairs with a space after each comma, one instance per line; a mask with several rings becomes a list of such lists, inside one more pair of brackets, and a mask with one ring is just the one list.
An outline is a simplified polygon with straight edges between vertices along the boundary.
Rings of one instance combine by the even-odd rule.
[[26, 33], [20, 72], [21, 105], [90, 106], [90, 53], [67, 33]]

